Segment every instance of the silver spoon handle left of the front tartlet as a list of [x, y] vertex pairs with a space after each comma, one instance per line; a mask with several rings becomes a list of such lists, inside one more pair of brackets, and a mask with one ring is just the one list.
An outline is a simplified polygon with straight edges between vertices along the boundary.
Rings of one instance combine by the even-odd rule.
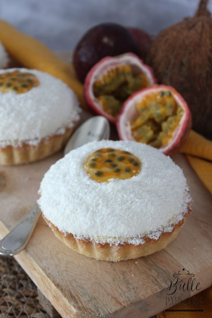
[[21, 252], [29, 241], [40, 216], [38, 204], [0, 242], [0, 255], [13, 256]]

